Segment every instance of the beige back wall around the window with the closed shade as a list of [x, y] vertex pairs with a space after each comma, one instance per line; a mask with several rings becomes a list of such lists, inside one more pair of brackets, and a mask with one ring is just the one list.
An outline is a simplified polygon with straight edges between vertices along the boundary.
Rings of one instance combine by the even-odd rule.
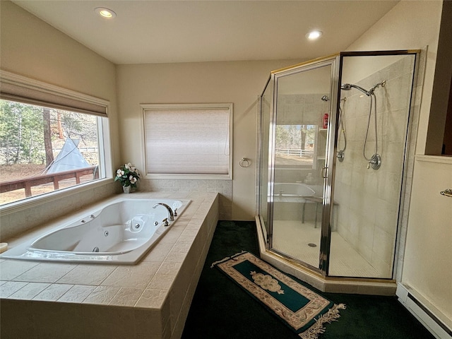
[[[256, 105], [270, 71], [299, 61], [232, 61], [117, 66], [121, 154], [145, 168], [142, 103], [234, 104], [232, 220], [255, 214]], [[172, 133], [172, 131], [168, 131]], [[133, 147], [131, 147], [133, 145]], [[168, 155], [171, 157], [171, 155]], [[251, 166], [239, 166], [247, 157]]]

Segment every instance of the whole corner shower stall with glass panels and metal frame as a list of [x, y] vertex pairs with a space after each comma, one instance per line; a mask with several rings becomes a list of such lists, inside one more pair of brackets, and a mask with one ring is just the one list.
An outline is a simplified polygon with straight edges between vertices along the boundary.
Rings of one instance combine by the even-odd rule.
[[419, 55], [342, 52], [270, 73], [258, 114], [261, 254], [325, 280], [396, 279]]

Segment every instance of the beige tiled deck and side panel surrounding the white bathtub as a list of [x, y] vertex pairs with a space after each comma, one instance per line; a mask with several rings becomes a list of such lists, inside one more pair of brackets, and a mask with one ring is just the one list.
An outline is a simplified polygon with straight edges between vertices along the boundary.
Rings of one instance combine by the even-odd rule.
[[191, 203], [135, 266], [1, 259], [1, 338], [180, 338], [218, 222], [218, 194], [133, 196]]

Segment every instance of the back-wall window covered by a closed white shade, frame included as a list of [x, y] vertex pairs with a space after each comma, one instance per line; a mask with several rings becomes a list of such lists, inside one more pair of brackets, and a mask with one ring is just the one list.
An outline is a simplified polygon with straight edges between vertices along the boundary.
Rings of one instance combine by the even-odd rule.
[[232, 104], [141, 106], [148, 177], [232, 178]]

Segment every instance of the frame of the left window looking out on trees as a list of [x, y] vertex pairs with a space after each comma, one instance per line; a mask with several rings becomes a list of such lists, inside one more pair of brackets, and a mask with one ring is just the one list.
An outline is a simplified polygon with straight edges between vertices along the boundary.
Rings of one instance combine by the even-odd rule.
[[[95, 117], [97, 117], [98, 121], [98, 140], [99, 140], [99, 171], [100, 178], [93, 182], [87, 182], [84, 184], [78, 184], [75, 186], [67, 187], [64, 189], [59, 189], [57, 191], [52, 191], [46, 194], [41, 194], [38, 196], [30, 196], [28, 198], [20, 199], [19, 201], [13, 201], [11, 203], [5, 203], [0, 206], [0, 214], [6, 215], [9, 213], [16, 213], [20, 210], [25, 210], [28, 208], [33, 208], [35, 206], [39, 206], [43, 203], [48, 203], [51, 201], [56, 201], [62, 198], [66, 198], [73, 194], [78, 194], [83, 191], [88, 191], [90, 189], [95, 189], [97, 187], [103, 186], [108, 182], [111, 182], [113, 179], [113, 170], [112, 170], [112, 150], [110, 143], [110, 127], [109, 127], [109, 107], [110, 102], [107, 100], [100, 99], [98, 97], [93, 97], [91, 95], [86, 95], [83, 93], [78, 93], [73, 90], [68, 90], [66, 88], [61, 88], [56, 85], [50, 85], [48, 83], [44, 83], [42, 81], [37, 81], [35, 79], [27, 78], [25, 76], [19, 76], [15, 73], [11, 73], [8, 71], [0, 71], [0, 81], [1, 83], [8, 83], [16, 86], [16, 88], [32, 88], [37, 92], [42, 93], [51, 93], [54, 97], [59, 97], [61, 100], [68, 99], [69, 102], [81, 102], [86, 103], [88, 105], [95, 105], [98, 107], [105, 107], [105, 114], [96, 114], [93, 112]], [[26, 104], [30, 104], [31, 102], [24, 98], [24, 100], [19, 100], [16, 98], [13, 100], [8, 95], [1, 95], [1, 99], [11, 100], [17, 102], [23, 102]], [[37, 105], [37, 104], [32, 104]], [[40, 105], [44, 105], [41, 102]], [[50, 104], [52, 105], [52, 104]], [[50, 106], [53, 108], [52, 106]], [[70, 109], [70, 107], [68, 107]], [[80, 109], [74, 109], [73, 112], [81, 112]], [[90, 114], [88, 112], [81, 112], [83, 114]], [[100, 126], [99, 126], [100, 125]]]

